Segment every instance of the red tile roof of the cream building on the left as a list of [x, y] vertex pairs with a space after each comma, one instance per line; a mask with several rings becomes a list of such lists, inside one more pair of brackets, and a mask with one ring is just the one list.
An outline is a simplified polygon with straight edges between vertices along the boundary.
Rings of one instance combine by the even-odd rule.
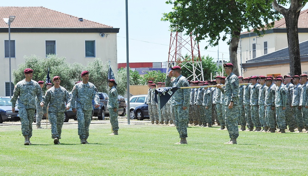
[[45, 7], [0, 7], [0, 28], [7, 28], [2, 18], [9, 16], [15, 16], [11, 28], [112, 28]]

